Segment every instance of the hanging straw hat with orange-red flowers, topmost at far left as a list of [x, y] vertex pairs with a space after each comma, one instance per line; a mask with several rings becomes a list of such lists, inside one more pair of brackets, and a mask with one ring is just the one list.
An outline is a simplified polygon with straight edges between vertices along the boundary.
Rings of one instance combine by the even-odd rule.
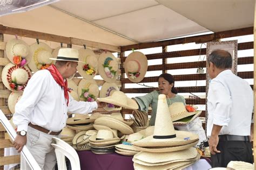
[[[5, 48], [7, 58], [15, 65], [24, 66], [32, 58], [29, 45], [21, 39], [11, 39], [6, 43]], [[22, 61], [23, 60], [23, 61]]]

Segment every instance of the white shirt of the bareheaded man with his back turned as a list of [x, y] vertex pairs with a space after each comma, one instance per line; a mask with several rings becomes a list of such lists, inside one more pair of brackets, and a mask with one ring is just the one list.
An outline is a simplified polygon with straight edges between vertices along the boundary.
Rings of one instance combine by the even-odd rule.
[[221, 134], [250, 136], [253, 111], [253, 91], [250, 85], [224, 70], [212, 79], [207, 96], [207, 137], [213, 124], [223, 126]]

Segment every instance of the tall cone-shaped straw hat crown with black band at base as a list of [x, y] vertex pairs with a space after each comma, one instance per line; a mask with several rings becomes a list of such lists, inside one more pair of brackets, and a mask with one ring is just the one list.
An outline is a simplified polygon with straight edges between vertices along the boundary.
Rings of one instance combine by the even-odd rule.
[[172, 124], [172, 118], [169, 112], [166, 96], [164, 94], [160, 94], [158, 96], [157, 115], [156, 123], [154, 125], [153, 137], [157, 138], [156, 136], [166, 138], [176, 137], [176, 132]]

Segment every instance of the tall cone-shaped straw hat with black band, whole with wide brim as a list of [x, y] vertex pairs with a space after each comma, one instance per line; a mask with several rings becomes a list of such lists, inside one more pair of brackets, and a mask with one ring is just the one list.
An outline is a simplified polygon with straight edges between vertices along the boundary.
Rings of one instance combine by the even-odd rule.
[[153, 135], [132, 144], [139, 147], [180, 146], [191, 144], [196, 140], [198, 140], [197, 134], [174, 130], [166, 96], [160, 94]]

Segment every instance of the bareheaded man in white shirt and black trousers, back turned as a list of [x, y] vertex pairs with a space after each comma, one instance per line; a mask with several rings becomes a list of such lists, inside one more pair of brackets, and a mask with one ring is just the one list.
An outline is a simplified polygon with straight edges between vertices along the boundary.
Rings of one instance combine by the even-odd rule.
[[207, 137], [212, 167], [227, 167], [232, 160], [252, 163], [253, 90], [232, 73], [232, 56], [227, 51], [213, 51], [207, 63], [212, 79], [207, 96]]

